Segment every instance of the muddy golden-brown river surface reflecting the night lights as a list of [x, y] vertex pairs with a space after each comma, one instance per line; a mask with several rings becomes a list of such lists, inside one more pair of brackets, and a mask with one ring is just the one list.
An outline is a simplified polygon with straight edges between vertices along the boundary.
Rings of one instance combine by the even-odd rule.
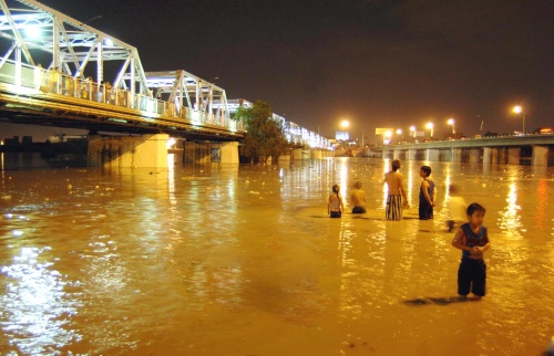
[[[389, 160], [1, 170], [1, 355], [542, 355], [554, 335], [554, 168]], [[359, 180], [368, 212], [327, 217]], [[488, 210], [488, 292], [456, 301], [447, 187]], [[347, 200], [347, 210], [351, 207]]]

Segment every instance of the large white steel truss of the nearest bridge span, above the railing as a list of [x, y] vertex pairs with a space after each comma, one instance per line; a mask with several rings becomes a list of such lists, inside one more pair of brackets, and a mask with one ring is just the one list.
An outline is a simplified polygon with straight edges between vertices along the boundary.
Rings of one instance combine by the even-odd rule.
[[104, 82], [104, 62], [120, 61], [113, 86], [152, 96], [136, 48], [34, 0], [0, 0], [0, 38], [12, 42], [0, 48], [3, 61], [24, 57], [35, 65], [35, 59], [49, 55], [48, 69], [73, 77], [84, 77], [95, 62], [98, 83]]

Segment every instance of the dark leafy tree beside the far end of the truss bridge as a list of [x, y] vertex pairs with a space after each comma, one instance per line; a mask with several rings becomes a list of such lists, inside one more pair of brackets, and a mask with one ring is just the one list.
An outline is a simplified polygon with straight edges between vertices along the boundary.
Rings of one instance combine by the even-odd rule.
[[271, 163], [276, 164], [279, 156], [288, 150], [284, 128], [271, 116], [271, 106], [263, 101], [257, 101], [249, 108], [239, 107], [236, 114], [246, 127], [240, 154], [250, 158], [250, 163], [265, 164], [271, 157]]

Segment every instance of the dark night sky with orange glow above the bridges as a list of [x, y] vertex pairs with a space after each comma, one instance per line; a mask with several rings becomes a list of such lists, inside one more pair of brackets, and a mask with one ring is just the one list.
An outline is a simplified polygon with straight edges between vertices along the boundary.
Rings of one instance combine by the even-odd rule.
[[101, 14], [90, 25], [147, 72], [185, 70], [327, 137], [345, 118], [366, 139], [428, 122], [441, 138], [449, 117], [465, 135], [513, 133], [515, 104], [527, 132], [554, 125], [553, 0], [41, 2]]

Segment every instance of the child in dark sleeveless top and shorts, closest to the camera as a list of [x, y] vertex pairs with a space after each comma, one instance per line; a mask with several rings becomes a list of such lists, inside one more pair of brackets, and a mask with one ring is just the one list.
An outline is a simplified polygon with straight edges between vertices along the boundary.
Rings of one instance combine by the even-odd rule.
[[485, 209], [473, 202], [468, 207], [468, 222], [452, 240], [452, 245], [462, 250], [462, 261], [458, 269], [458, 294], [465, 299], [471, 292], [476, 300], [485, 295], [486, 265], [483, 252], [491, 248], [486, 228], [483, 227]]

